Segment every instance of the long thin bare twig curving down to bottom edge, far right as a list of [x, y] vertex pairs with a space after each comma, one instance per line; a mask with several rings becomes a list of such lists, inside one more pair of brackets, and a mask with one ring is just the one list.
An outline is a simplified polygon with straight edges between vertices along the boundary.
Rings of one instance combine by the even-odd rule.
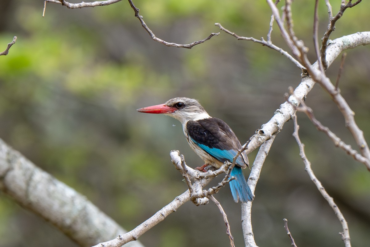
[[299, 138], [299, 135], [298, 135], [299, 125], [297, 124], [296, 114], [294, 114], [294, 116], [293, 116], [293, 122], [294, 122], [293, 137], [296, 139], [297, 144], [299, 146], [299, 154], [300, 154], [300, 156], [303, 160], [303, 163], [305, 164], [305, 170], [309, 174], [311, 180], [316, 185], [317, 189], [320, 191], [322, 196], [329, 203], [329, 206], [333, 208], [335, 215], [337, 216], [338, 220], [340, 221], [340, 224], [342, 224], [343, 232], [340, 233], [340, 234], [342, 236], [342, 240], [344, 241], [344, 246], [351, 247], [347, 221], [344, 218], [342, 212], [339, 210], [339, 207], [337, 206], [337, 204], [334, 203], [333, 197], [329, 196], [329, 194], [326, 192], [325, 188], [322, 186], [321, 182], [317, 179], [317, 177], [313, 173], [313, 170], [311, 168], [311, 163], [306, 157], [305, 145], [301, 142], [301, 140]]

